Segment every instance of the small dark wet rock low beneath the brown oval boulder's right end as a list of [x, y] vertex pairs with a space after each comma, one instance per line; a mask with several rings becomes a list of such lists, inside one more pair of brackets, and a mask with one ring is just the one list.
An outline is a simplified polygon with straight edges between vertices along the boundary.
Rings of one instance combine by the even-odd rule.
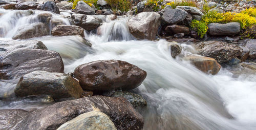
[[147, 105], [146, 100], [142, 96], [126, 91], [116, 91], [111, 97], [123, 97], [127, 101], [129, 101], [135, 108], [144, 107]]

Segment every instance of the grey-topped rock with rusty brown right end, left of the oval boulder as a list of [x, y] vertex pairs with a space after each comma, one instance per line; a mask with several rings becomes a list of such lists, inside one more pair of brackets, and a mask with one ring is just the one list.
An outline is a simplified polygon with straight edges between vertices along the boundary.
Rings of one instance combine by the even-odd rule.
[[20, 78], [14, 92], [20, 97], [50, 95], [60, 99], [80, 98], [83, 90], [79, 82], [68, 74], [34, 71]]

